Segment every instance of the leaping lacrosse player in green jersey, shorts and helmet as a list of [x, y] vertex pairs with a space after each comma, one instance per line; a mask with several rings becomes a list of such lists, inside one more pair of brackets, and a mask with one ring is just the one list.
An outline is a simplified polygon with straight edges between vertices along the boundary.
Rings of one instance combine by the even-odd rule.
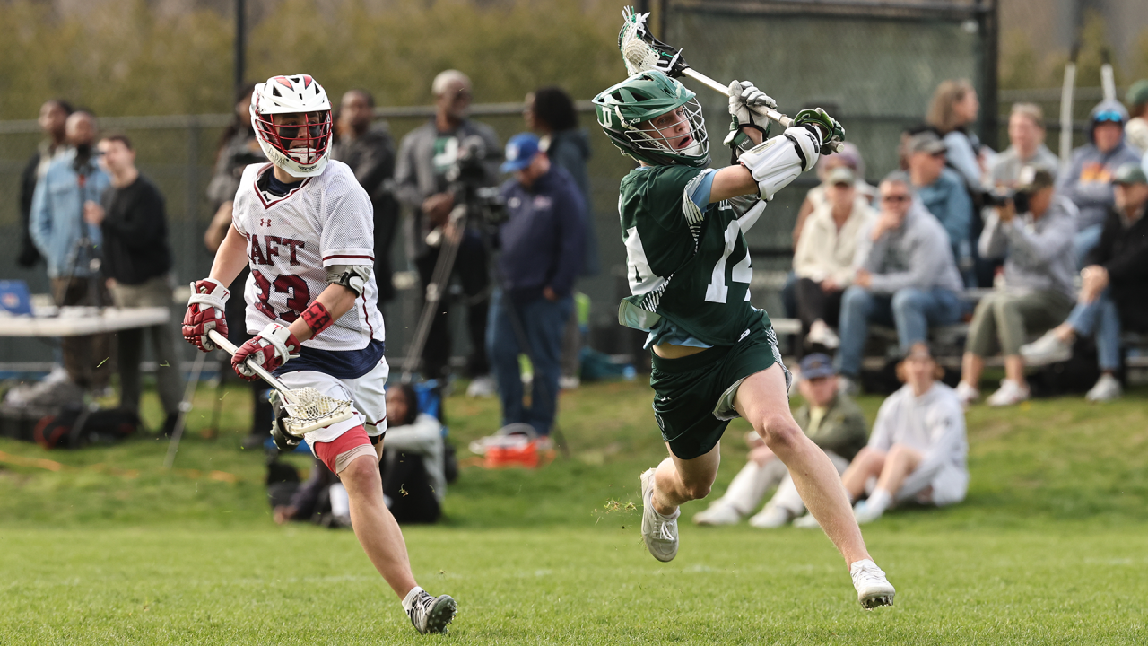
[[665, 74], [638, 72], [594, 98], [598, 124], [641, 167], [619, 195], [633, 295], [619, 321], [649, 332], [653, 410], [669, 457], [642, 474], [642, 538], [654, 559], [677, 554], [680, 506], [705, 498], [719, 440], [734, 417], [753, 424], [793, 477], [813, 517], [845, 556], [858, 600], [892, 605], [893, 586], [869, 557], [837, 470], [790, 414], [791, 376], [769, 317], [750, 305], [744, 233], [774, 194], [844, 138], [823, 110], [801, 110], [767, 139], [751, 106], [776, 103], [748, 82], [730, 90], [726, 143], [736, 163], [714, 170], [701, 107]]

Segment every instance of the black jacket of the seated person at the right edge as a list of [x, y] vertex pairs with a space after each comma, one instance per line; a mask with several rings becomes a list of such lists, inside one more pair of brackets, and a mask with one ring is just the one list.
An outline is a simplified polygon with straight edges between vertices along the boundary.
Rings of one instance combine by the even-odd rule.
[[1125, 228], [1115, 209], [1108, 209], [1100, 243], [1088, 252], [1085, 266], [1100, 264], [1108, 280], [1120, 325], [1127, 331], [1148, 332], [1148, 206], [1140, 218]]

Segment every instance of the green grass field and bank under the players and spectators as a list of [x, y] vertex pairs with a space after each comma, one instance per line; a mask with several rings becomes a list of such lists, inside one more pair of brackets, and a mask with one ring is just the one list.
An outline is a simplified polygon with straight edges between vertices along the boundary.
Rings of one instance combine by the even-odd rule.
[[[459, 601], [432, 637], [351, 532], [271, 522], [263, 456], [239, 447], [248, 395], [227, 391], [225, 430], [207, 439], [201, 389], [172, 471], [150, 438], [0, 440], [0, 644], [1146, 643], [1146, 395], [974, 408], [968, 500], [866, 526], [898, 587], [894, 608], [867, 613], [820, 532], [697, 528], [704, 503], [683, 509], [677, 559], [654, 561], [627, 506], [665, 454], [650, 390], [585, 386], [561, 401], [569, 460], [465, 468], [448, 520], [404, 529], [419, 582]], [[862, 405], [871, 420], [879, 399]], [[459, 447], [497, 425], [492, 400], [447, 406]], [[745, 429], [723, 440], [719, 492]]]

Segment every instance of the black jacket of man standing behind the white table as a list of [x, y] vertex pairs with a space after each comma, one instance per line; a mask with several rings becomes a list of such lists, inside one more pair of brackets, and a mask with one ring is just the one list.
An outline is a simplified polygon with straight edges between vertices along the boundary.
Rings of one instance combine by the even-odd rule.
[[123, 189], [111, 187], [100, 200], [103, 223], [103, 275], [139, 285], [171, 269], [163, 195], [140, 175]]

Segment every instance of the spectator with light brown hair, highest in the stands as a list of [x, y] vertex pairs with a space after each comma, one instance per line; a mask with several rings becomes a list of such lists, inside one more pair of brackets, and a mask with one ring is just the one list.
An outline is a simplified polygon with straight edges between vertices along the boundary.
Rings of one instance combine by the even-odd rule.
[[969, 130], [977, 122], [980, 101], [977, 91], [968, 80], [944, 80], [933, 92], [925, 121], [944, 137], [948, 151], [948, 164], [963, 179], [970, 192], [980, 190], [984, 175], [980, 140]]

